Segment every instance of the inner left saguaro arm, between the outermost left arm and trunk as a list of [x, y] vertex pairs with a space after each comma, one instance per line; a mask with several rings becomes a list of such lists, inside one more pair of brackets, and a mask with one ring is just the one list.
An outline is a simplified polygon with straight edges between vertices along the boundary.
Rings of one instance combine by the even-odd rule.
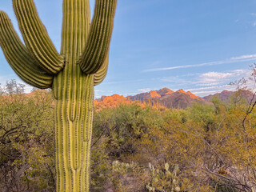
[[64, 66], [64, 58], [58, 54], [38, 17], [33, 0], [13, 0], [14, 12], [29, 53], [50, 74], [57, 74]]

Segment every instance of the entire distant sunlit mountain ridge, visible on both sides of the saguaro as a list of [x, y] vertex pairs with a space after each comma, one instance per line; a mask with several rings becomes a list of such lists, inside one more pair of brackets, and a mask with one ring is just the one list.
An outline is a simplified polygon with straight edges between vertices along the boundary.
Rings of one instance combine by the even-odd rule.
[[[43, 93], [48, 93], [46, 90], [34, 90], [30, 94], [26, 94], [28, 97], [40, 96]], [[234, 97], [233, 97], [234, 96]], [[223, 90], [217, 94], [210, 94], [203, 98], [198, 97], [197, 95], [191, 93], [190, 91], [177, 90], [173, 91], [166, 87], [160, 90], [150, 90], [146, 93], [136, 94], [134, 96], [124, 97], [119, 94], [113, 94], [112, 96], [102, 96], [102, 98], [96, 98], [94, 100], [95, 110], [101, 110], [106, 107], [115, 107], [120, 104], [131, 104], [136, 102], [140, 106], [151, 105], [157, 109], [164, 108], [178, 108], [185, 109], [187, 106], [191, 106], [194, 102], [208, 103], [213, 104], [212, 99], [214, 97], [219, 98], [222, 102], [238, 102], [241, 98], [246, 99], [247, 102], [250, 102], [253, 98], [254, 93], [249, 90], [239, 90], [239, 91], [229, 91]], [[256, 96], [254, 97], [254, 101]], [[231, 101], [232, 102], [232, 101]], [[54, 103], [53, 103], [54, 105]]]

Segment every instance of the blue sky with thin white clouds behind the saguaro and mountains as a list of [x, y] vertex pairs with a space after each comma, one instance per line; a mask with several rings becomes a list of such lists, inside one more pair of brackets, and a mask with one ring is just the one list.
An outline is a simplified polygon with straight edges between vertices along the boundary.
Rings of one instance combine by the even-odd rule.
[[[60, 50], [62, 0], [35, 3]], [[93, 12], [93, 0], [90, 5]], [[1, 0], [0, 9], [18, 31], [11, 1]], [[227, 84], [248, 77], [254, 62], [255, 0], [119, 0], [108, 74], [95, 95], [126, 96], [162, 87], [198, 96], [234, 90]], [[21, 81], [2, 50], [0, 66], [2, 85], [12, 78]]]

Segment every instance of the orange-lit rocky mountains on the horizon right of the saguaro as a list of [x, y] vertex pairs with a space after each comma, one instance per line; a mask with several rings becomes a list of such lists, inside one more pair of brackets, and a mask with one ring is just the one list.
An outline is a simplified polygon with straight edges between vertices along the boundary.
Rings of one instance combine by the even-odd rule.
[[[136, 94], [134, 96], [124, 97], [122, 95], [114, 94], [112, 96], [102, 96], [102, 98], [98, 98], [94, 101], [96, 106], [117, 106], [118, 103], [131, 103], [138, 101], [139, 103], [150, 103], [152, 105], [165, 106], [166, 108], [179, 108], [185, 109], [187, 106], [192, 105], [194, 102], [201, 103], [212, 103], [211, 100], [215, 96], [220, 98], [222, 102], [228, 102], [230, 96], [234, 94], [234, 91], [223, 90], [218, 94], [210, 94], [206, 97], [198, 97], [195, 94], [192, 94], [190, 91], [185, 90], [177, 90], [173, 91], [168, 88], [162, 88], [161, 90], [151, 90], [150, 92]], [[246, 98], [249, 100], [252, 98], [251, 92], [246, 92], [244, 94]], [[249, 95], [249, 97], [248, 97]]]

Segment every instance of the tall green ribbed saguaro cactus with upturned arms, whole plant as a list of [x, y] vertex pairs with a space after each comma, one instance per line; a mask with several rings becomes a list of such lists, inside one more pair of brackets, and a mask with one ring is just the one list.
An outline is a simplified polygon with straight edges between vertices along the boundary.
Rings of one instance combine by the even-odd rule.
[[[13, 0], [25, 45], [0, 11], [0, 46], [16, 74], [54, 95], [56, 191], [89, 191], [94, 86], [106, 76], [117, 0], [63, 0], [62, 47], [55, 49], [33, 0]], [[91, 22], [91, 24], [90, 24]]]

